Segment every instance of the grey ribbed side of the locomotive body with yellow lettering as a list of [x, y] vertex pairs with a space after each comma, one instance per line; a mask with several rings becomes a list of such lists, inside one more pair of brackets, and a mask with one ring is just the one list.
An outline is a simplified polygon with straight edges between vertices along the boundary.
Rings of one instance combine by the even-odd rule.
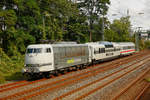
[[88, 63], [89, 51], [85, 44], [52, 45], [52, 47], [55, 69]]

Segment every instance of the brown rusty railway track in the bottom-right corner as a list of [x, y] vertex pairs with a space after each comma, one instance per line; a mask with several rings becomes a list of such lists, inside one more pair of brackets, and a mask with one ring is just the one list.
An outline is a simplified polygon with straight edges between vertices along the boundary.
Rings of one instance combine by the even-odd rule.
[[136, 78], [133, 82], [123, 88], [112, 100], [140, 100], [143, 93], [149, 88], [150, 84], [145, 80], [150, 77], [150, 71]]

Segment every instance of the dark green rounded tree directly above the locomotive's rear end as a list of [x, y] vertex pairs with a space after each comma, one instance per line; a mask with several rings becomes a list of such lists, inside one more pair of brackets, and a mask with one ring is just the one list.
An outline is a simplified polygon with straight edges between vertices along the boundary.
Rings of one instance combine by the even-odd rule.
[[75, 15], [69, 18], [66, 25], [66, 34], [64, 35], [65, 41], [77, 41], [84, 43], [89, 40], [88, 38], [88, 25], [85, 23], [86, 17], [83, 15]]

